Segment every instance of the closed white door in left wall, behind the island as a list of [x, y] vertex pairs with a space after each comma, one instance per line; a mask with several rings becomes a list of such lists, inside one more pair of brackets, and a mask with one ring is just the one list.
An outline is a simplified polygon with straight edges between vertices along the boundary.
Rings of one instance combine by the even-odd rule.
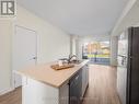
[[14, 70], [21, 70], [24, 67], [33, 66], [37, 60], [37, 34], [35, 31], [15, 26], [13, 36], [13, 79], [14, 88], [22, 85], [21, 76]]

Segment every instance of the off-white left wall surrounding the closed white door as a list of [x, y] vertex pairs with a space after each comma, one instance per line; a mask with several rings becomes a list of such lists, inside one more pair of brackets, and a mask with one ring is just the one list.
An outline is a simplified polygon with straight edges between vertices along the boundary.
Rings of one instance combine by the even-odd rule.
[[12, 35], [14, 35], [15, 25], [37, 32], [38, 63], [57, 60], [70, 53], [70, 35], [20, 5], [18, 7], [16, 18], [11, 20], [0, 20], [0, 92], [11, 88]]

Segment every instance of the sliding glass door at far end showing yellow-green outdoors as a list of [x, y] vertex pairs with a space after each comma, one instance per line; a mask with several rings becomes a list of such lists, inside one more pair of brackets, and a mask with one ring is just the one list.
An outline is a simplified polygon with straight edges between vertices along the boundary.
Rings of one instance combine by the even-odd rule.
[[82, 46], [82, 58], [91, 63], [109, 65], [109, 42], [91, 42]]

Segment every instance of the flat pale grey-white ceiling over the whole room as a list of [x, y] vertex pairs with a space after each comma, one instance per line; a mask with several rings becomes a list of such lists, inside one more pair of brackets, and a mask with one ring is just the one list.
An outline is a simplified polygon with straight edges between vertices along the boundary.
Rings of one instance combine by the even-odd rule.
[[103, 35], [114, 27], [128, 0], [18, 0], [18, 3], [74, 35]]

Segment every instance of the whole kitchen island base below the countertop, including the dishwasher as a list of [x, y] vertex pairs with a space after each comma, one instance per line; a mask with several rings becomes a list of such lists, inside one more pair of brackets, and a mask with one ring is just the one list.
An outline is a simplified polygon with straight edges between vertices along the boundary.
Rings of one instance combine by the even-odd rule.
[[22, 104], [81, 104], [88, 84], [88, 65], [60, 88], [22, 77]]

